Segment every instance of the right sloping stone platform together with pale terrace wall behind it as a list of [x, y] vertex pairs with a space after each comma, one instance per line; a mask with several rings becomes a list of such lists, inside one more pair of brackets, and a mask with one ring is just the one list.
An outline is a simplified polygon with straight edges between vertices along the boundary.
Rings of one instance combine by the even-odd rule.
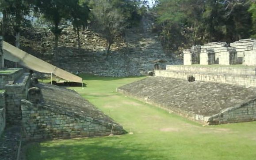
[[170, 65], [117, 91], [204, 125], [256, 120], [255, 67]]

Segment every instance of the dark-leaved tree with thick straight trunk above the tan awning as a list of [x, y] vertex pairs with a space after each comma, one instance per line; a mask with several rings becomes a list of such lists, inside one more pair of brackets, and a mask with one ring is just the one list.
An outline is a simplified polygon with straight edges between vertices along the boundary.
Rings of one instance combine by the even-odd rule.
[[63, 28], [60, 28], [62, 20], [69, 18], [69, 0], [35, 0], [36, 11], [41, 12], [44, 17], [50, 21], [53, 26], [50, 30], [55, 36], [55, 55], [58, 53], [58, 39], [61, 35]]

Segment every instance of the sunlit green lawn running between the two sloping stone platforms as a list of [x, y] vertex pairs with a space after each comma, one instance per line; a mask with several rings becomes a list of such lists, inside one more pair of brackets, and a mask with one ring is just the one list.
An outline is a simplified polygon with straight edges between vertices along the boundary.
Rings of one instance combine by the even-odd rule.
[[73, 89], [134, 134], [36, 142], [28, 160], [256, 160], [256, 122], [203, 127], [116, 92], [144, 77], [83, 78]]

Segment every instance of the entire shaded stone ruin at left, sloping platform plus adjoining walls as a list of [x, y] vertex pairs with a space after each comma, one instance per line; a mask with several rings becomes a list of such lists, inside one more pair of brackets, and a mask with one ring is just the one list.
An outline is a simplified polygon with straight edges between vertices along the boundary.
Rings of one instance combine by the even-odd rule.
[[0, 160], [18, 160], [22, 141], [110, 134], [123, 134], [122, 126], [75, 91], [0, 67]]

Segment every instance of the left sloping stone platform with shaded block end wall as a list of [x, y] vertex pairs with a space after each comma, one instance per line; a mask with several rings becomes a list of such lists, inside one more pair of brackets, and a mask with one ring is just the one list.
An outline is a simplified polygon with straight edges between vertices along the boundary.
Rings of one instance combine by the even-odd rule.
[[38, 84], [42, 102], [22, 100], [24, 139], [77, 138], [122, 134], [122, 126], [73, 90]]

